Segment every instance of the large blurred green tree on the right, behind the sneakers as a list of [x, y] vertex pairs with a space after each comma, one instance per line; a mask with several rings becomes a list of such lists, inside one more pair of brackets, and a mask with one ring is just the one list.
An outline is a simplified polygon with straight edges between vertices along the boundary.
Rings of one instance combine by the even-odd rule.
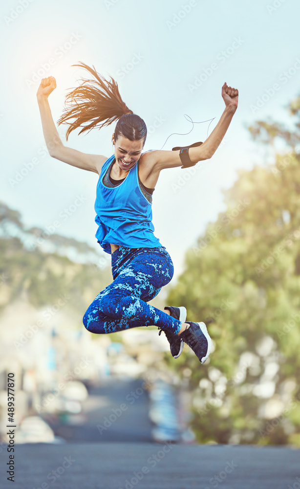
[[300, 97], [288, 108], [293, 131], [248, 127], [274, 161], [240, 170], [223, 190], [226, 211], [188, 250], [169, 291], [188, 320], [212, 321], [205, 365], [187, 345], [176, 362], [166, 356], [188, 379], [200, 443], [300, 446]]

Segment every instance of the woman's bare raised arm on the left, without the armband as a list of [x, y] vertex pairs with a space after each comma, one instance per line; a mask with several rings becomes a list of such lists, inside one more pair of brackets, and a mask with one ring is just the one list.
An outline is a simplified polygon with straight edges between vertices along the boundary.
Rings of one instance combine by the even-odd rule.
[[55, 127], [48, 102], [48, 96], [55, 88], [55, 78], [53, 76], [49, 76], [48, 78], [42, 79], [41, 85], [37, 91], [43, 135], [49, 155], [53, 158], [59, 159], [60, 161], [64, 161], [64, 163], [81, 168], [82, 170], [100, 174], [101, 167], [107, 160], [106, 156], [90, 155], [64, 146]]

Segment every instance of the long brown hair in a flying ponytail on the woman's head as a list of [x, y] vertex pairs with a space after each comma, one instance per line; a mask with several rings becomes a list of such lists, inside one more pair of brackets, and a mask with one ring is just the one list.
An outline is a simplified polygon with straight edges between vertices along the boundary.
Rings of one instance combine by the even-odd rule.
[[[85, 68], [91, 73], [93, 79], [83, 79], [83, 83], [66, 95], [65, 108], [57, 123], [69, 124], [66, 140], [69, 134], [81, 127], [79, 134], [90, 131], [94, 127], [101, 129], [118, 121], [115, 127], [115, 139], [119, 135], [127, 137], [130, 141], [147, 137], [147, 127], [143, 119], [134, 114], [123, 102], [117, 82], [110, 77], [106, 80], [93, 68], [80, 62], [75, 67]], [[71, 121], [71, 119], [74, 119]]]

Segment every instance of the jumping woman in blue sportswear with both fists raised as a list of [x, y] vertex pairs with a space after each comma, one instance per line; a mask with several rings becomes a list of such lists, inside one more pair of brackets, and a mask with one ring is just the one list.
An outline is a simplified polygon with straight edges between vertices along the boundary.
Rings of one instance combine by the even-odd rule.
[[[171, 354], [178, 358], [187, 343], [201, 363], [208, 358], [211, 338], [203, 322], [186, 321], [184, 307], [151, 306], [160, 289], [173, 276], [171, 257], [153, 234], [152, 193], [160, 171], [195, 165], [213, 156], [237, 108], [238, 90], [224, 83], [225, 110], [210, 136], [176, 151], [143, 152], [147, 128], [143, 119], [123, 102], [117, 83], [105, 80], [95, 69], [81, 63], [94, 76], [72, 90], [58, 123], [69, 124], [80, 133], [117, 121], [112, 134], [114, 155], [90, 155], [63, 145], [52, 119], [49, 94], [56, 88], [53, 76], [43, 78], [37, 92], [43, 134], [50, 156], [99, 175], [95, 202], [96, 238], [111, 254], [113, 282], [88, 307], [83, 323], [92, 333], [112, 333], [128, 328], [155, 325], [164, 331]], [[94, 67], [93, 67], [94, 68]], [[74, 119], [72, 122], [71, 119]]]

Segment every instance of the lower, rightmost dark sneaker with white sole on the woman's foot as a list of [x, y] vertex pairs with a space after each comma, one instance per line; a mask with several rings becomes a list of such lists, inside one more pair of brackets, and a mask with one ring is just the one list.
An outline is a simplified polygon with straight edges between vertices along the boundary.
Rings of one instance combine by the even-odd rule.
[[185, 322], [190, 324], [190, 327], [180, 333], [179, 337], [182, 336], [182, 339], [192, 348], [200, 362], [204, 363], [207, 360], [212, 347], [212, 340], [207, 332], [206, 325], [203, 322]]

